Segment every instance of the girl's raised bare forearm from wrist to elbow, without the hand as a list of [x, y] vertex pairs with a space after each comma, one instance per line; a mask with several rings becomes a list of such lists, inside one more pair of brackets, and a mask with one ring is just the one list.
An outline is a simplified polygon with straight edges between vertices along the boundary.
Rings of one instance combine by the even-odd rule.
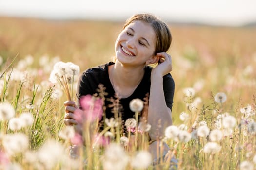
[[152, 73], [148, 107], [148, 123], [151, 125], [150, 138], [156, 140], [164, 135], [167, 126], [172, 125], [171, 109], [167, 107], [162, 76]]

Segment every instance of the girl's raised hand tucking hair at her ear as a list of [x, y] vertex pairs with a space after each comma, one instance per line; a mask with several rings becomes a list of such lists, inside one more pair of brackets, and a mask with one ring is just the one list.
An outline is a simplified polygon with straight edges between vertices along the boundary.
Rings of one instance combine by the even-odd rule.
[[161, 76], [164, 76], [171, 72], [173, 69], [171, 56], [166, 52], [157, 53], [157, 56], [159, 57], [160, 64], [156, 66], [152, 71], [160, 74]]

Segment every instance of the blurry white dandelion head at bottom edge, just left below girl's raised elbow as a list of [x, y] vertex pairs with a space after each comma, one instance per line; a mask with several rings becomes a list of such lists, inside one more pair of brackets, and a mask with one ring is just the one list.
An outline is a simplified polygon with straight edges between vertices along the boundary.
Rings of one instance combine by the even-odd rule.
[[132, 167], [135, 169], [146, 169], [152, 161], [152, 156], [148, 151], [138, 151], [132, 159]]

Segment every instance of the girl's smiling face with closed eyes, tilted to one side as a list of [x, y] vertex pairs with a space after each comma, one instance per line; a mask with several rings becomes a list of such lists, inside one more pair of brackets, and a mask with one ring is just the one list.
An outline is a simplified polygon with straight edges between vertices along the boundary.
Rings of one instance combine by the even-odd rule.
[[115, 51], [117, 60], [126, 65], [145, 65], [155, 54], [156, 34], [149, 23], [134, 21], [119, 34]]

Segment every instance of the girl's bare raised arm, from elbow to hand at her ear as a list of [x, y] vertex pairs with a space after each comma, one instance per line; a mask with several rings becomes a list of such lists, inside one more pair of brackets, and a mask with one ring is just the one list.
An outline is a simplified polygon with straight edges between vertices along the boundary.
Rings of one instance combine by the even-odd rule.
[[[164, 136], [164, 130], [172, 125], [171, 109], [167, 107], [163, 90], [163, 76], [172, 70], [171, 56], [162, 52], [157, 54], [161, 64], [151, 72], [151, 86], [148, 108], [148, 123], [151, 125], [149, 136], [152, 140]], [[164, 58], [165, 60], [162, 60]]]

